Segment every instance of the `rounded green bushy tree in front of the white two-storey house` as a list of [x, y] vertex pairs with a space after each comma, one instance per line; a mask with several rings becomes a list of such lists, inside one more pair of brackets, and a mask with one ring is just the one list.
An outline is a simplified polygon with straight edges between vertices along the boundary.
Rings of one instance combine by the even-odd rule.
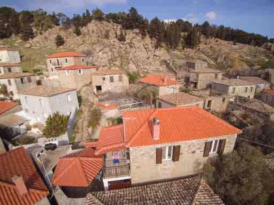
[[53, 113], [53, 115], [48, 116], [45, 122], [45, 128], [43, 129], [43, 135], [47, 138], [58, 137], [67, 131], [67, 123], [69, 117], [66, 115], [61, 115], [58, 112]]

